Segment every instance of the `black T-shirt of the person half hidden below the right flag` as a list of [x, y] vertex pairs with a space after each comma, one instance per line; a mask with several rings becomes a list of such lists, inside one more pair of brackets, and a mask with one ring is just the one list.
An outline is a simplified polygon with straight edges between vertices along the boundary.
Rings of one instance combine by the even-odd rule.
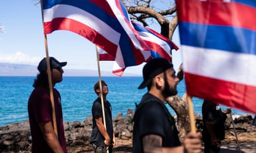
[[204, 103], [202, 104], [202, 138], [204, 140], [211, 140], [211, 135], [209, 134], [205, 123], [206, 120], [212, 120], [213, 131], [218, 140], [223, 140], [225, 138], [225, 120], [223, 115], [219, 105], [204, 100]]

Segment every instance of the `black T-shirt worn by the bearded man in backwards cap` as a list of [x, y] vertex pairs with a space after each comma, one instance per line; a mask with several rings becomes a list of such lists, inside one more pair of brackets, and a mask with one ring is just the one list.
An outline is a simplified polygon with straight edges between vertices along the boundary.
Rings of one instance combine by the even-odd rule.
[[133, 152], [143, 152], [142, 138], [150, 134], [162, 137], [162, 147], [181, 145], [173, 116], [163, 102], [150, 93], [143, 96], [133, 121]]

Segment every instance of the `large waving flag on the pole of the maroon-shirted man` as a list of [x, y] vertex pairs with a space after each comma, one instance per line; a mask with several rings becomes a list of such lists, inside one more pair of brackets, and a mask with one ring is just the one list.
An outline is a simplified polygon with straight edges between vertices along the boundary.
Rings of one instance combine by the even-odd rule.
[[45, 34], [55, 30], [77, 33], [116, 57], [120, 68], [151, 57], [119, 0], [43, 0], [43, 21]]

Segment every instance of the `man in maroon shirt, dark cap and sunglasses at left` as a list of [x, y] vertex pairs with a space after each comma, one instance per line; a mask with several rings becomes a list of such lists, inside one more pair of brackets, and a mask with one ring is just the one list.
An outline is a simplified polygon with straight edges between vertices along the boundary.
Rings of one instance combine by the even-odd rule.
[[[62, 67], [67, 62], [59, 62], [54, 57], [50, 57], [49, 62], [52, 87], [54, 87], [56, 83], [62, 81], [64, 73]], [[37, 79], [33, 83], [35, 89], [28, 100], [32, 152], [67, 152], [60, 93], [55, 88], [53, 88], [53, 95], [58, 135], [54, 131], [46, 58], [40, 61], [37, 69], [40, 73], [37, 74]]]

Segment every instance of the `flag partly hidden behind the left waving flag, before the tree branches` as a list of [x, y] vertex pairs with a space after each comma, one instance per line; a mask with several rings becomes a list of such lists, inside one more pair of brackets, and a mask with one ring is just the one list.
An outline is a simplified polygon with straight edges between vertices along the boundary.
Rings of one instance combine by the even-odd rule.
[[[139, 23], [133, 22], [132, 25], [142, 38], [142, 40], [150, 47], [151, 58], [166, 58], [167, 60], [171, 60], [171, 50], [178, 50], [178, 46], [174, 44], [174, 42], [170, 41], [168, 38], [162, 36], [161, 34], [155, 32], [150, 28], [145, 28]], [[108, 54], [104, 50], [98, 48], [98, 53], [100, 56], [100, 61], [114, 61], [115, 57]], [[150, 59], [149, 59], [150, 60]], [[119, 72], [124, 69], [120, 69], [117, 65], [114, 66], [113, 73]]]

